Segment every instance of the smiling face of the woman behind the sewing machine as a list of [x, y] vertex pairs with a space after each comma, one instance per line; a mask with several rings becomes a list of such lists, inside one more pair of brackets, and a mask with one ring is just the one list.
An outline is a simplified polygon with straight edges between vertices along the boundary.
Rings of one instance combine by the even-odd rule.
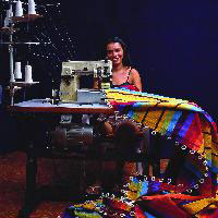
[[107, 45], [107, 57], [112, 61], [113, 65], [119, 65], [122, 63], [123, 49], [119, 43], [110, 43]]

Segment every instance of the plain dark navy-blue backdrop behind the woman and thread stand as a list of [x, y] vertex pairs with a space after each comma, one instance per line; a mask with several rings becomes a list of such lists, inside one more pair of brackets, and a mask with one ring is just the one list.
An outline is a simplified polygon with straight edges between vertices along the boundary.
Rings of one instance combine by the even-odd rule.
[[[106, 38], [120, 36], [144, 92], [194, 101], [217, 121], [218, 1], [59, 0], [60, 5], [49, 5], [56, 2], [36, 0], [44, 19], [20, 24], [14, 35], [15, 40], [41, 43], [15, 48], [15, 60], [28, 60], [34, 80], [40, 81], [29, 97], [49, 97], [62, 61], [98, 60]], [[1, 84], [9, 76], [8, 61], [8, 48], [0, 45]]]

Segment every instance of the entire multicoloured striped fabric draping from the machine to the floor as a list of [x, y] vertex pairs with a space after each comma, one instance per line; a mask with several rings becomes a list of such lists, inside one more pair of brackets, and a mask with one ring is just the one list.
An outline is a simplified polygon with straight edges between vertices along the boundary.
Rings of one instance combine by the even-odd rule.
[[218, 133], [210, 116], [187, 100], [128, 89], [105, 92], [107, 102], [114, 110], [173, 138], [181, 149], [187, 149], [184, 168], [175, 185], [170, 183], [170, 178], [168, 181], [149, 180], [146, 175], [143, 179], [131, 178], [123, 197], [102, 195], [98, 202], [73, 205], [66, 209], [64, 218], [75, 214], [77, 217], [137, 218], [216, 216]]

